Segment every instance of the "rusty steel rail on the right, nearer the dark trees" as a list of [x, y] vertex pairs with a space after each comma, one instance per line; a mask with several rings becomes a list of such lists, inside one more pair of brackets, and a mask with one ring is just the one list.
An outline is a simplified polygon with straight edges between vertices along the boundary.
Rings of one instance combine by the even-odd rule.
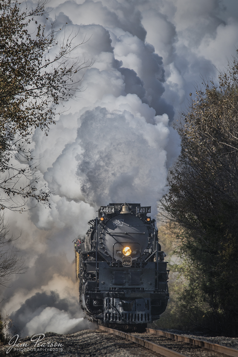
[[159, 336], [164, 336], [167, 338], [171, 338], [173, 340], [192, 343], [193, 345], [198, 345], [200, 347], [207, 348], [208, 350], [224, 353], [225, 355], [228, 355], [228, 356], [238, 357], [238, 350], [235, 350], [234, 348], [217, 345], [216, 343], [198, 340], [198, 339], [192, 338], [192, 337], [177, 335], [175, 333], [170, 333], [167, 331], [153, 330], [152, 328], [147, 328], [146, 331], [148, 333], [152, 333], [152, 334], [159, 335]]

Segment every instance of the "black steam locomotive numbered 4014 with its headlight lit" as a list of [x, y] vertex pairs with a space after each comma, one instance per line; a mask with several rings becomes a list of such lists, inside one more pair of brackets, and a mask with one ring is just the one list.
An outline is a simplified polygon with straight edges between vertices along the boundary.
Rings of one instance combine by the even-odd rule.
[[74, 242], [80, 303], [90, 321], [143, 331], [165, 311], [167, 262], [151, 207], [109, 203]]

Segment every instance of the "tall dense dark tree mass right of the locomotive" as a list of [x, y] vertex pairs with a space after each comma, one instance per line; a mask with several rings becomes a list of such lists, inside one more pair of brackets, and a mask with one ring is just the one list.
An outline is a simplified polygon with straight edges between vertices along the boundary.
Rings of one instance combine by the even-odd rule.
[[[190, 326], [238, 335], [238, 60], [196, 91], [162, 209], [177, 225]], [[167, 213], [166, 213], [167, 212]]]

